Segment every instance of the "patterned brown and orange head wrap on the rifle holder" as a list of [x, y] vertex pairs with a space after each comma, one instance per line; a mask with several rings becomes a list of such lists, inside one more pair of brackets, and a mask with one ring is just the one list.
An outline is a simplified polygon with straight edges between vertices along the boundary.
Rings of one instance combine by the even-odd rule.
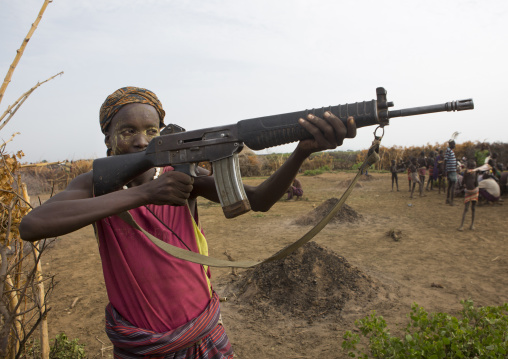
[[164, 116], [166, 113], [162, 109], [161, 102], [152, 91], [141, 87], [122, 87], [109, 95], [101, 106], [99, 118], [102, 133], [106, 131], [118, 111], [130, 103], [145, 103], [153, 106], [159, 114], [160, 127], [165, 126]]

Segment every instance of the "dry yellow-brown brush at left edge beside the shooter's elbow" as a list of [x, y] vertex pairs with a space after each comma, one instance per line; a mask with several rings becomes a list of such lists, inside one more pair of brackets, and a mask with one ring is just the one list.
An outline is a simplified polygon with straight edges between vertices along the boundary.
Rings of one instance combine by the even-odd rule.
[[[0, 357], [14, 358], [26, 352], [30, 336], [48, 312], [44, 303], [53, 278], [43, 277], [38, 265], [45, 242], [37, 248], [20, 238], [19, 224], [31, 209], [16, 173], [23, 153], [9, 155], [4, 149], [0, 153]], [[47, 291], [44, 281], [49, 281]]]

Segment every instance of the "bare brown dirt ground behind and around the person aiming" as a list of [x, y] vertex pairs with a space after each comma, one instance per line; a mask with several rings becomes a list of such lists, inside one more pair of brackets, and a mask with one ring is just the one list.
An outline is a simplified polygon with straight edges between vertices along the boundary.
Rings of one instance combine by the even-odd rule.
[[[301, 176], [303, 200], [281, 200], [267, 213], [236, 219], [202, 201], [210, 255], [269, 257], [309, 230], [301, 220], [340, 198], [353, 177]], [[452, 207], [434, 190], [411, 200], [406, 176], [399, 179], [400, 192], [390, 191], [390, 174], [359, 182], [343, 218], [282, 261], [212, 270], [215, 290], [227, 298], [222, 317], [237, 358], [346, 358], [344, 331], [372, 310], [397, 332], [414, 302], [429, 312], [457, 313], [462, 299], [479, 306], [508, 301], [508, 202], [478, 207], [476, 230], [459, 232], [462, 198]], [[58, 282], [49, 298], [50, 337], [65, 332], [86, 344], [90, 358], [111, 358], [103, 324], [108, 299], [92, 228], [57, 239], [43, 270]]]

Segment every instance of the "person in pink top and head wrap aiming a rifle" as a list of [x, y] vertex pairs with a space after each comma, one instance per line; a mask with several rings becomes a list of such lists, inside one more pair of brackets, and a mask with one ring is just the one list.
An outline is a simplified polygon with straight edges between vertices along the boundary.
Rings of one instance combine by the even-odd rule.
[[[137, 87], [115, 91], [100, 110], [108, 155], [144, 151], [164, 127], [164, 116], [151, 91]], [[313, 139], [300, 141], [284, 165], [259, 186], [245, 186], [253, 210], [268, 211], [311, 153], [334, 149], [356, 135], [352, 117], [344, 125], [330, 112], [323, 118], [308, 115], [299, 123]], [[233, 357], [209, 268], [170, 256], [116, 216], [129, 211], [159, 239], [207, 255], [196, 199], [218, 202], [219, 198], [213, 176], [202, 168], [197, 173], [193, 178], [171, 167], [152, 168], [123, 190], [98, 197], [93, 194], [92, 172], [85, 173], [31, 211], [20, 225], [21, 237], [27, 241], [94, 225], [110, 300], [106, 331], [115, 358]]]

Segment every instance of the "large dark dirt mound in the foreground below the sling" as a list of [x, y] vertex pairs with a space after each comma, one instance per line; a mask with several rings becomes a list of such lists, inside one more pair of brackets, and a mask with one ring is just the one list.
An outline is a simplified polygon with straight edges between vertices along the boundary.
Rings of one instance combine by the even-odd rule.
[[255, 310], [269, 306], [314, 320], [339, 316], [349, 299], [370, 297], [377, 288], [373, 283], [344, 257], [309, 242], [283, 260], [247, 270], [229, 295]]

